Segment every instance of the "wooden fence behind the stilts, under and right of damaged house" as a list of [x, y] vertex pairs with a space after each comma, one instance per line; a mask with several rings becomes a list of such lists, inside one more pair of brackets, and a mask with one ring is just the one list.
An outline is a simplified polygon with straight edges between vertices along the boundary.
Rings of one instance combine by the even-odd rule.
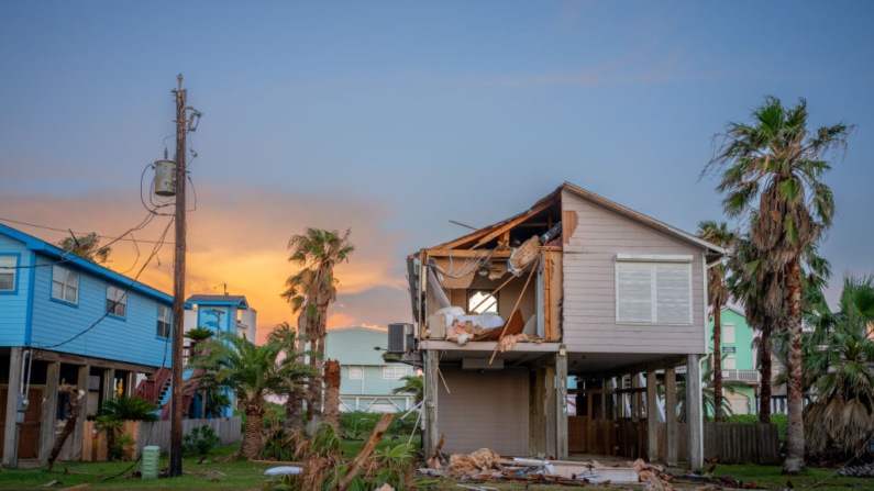
[[[596, 455], [616, 455], [628, 458], [646, 458], [646, 422], [632, 423], [629, 419], [595, 420], [591, 422], [591, 439], [586, 416], [571, 416], [568, 425], [568, 450]], [[688, 429], [685, 423], [677, 425], [677, 459], [689, 459]], [[659, 457], [665, 459], [665, 424], [659, 424]], [[722, 464], [779, 464], [779, 438], [777, 425], [745, 423], [705, 423], [704, 457], [719, 457]]]

